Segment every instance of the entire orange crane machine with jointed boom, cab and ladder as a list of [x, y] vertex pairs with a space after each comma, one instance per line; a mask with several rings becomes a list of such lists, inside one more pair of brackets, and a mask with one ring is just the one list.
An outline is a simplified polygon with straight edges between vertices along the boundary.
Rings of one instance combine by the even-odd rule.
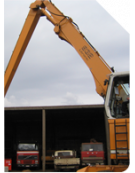
[[75, 48], [93, 75], [96, 92], [104, 100], [105, 116], [108, 118], [109, 131], [105, 134], [109, 138], [106, 142], [108, 165], [130, 165], [130, 72], [115, 72], [79, 30], [78, 25], [49, 0], [36, 0], [30, 5], [4, 74], [4, 96], [41, 16], [46, 16], [54, 25], [54, 32], [61, 40]]

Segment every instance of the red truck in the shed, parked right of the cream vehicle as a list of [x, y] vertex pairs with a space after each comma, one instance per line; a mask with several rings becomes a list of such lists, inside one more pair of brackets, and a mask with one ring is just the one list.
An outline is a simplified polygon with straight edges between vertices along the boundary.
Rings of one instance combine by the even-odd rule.
[[82, 143], [81, 145], [81, 164], [104, 165], [104, 148], [102, 142]]

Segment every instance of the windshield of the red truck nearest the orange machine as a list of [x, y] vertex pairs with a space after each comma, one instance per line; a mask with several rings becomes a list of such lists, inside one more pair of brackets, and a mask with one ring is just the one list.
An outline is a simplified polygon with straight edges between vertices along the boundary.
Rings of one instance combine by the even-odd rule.
[[82, 151], [103, 151], [102, 144], [82, 144]]

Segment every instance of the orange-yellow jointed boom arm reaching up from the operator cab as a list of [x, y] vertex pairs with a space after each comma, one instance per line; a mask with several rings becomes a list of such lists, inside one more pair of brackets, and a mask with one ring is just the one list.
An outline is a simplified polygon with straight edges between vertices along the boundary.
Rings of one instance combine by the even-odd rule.
[[65, 16], [48, 0], [37, 0], [30, 5], [27, 19], [5, 71], [4, 96], [7, 93], [8, 87], [14, 77], [40, 16], [46, 16], [54, 25], [54, 31], [59, 38], [67, 41], [76, 49], [94, 77], [97, 93], [104, 97], [107, 90], [107, 85], [104, 85], [104, 81], [109, 79], [109, 74], [112, 73], [111, 68], [79, 31], [78, 26], [72, 19]]

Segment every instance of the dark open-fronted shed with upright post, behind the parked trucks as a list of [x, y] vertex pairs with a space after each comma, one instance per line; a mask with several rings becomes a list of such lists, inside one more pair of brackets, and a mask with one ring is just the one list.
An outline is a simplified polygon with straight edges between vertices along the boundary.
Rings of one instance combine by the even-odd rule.
[[[37, 141], [39, 146], [39, 167], [51, 170], [53, 161], [47, 162], [49, 151], [70, 149], [81, 157], [81, 143], [95, 138], [103, 142], [105, 163], [107, 137], [103, 105], [16, 107], [4, 109], [4, 158], [12, 159], [12, 170], [17, 171], [17, 143]], [[32, 168], [33, 169], [33, 168]]]

